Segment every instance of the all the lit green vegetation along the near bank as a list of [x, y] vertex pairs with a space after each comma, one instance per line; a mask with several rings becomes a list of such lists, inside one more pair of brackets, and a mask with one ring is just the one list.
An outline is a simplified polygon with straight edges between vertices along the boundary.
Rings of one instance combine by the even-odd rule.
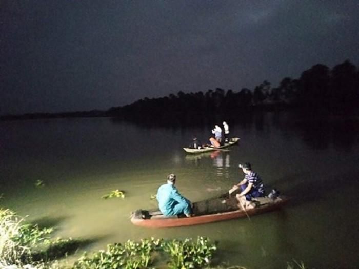
[[[234, 269], [216, 259], [218, 242], [196, 239], [150, 238], [112, 243], [106, 250], [84, 252], [73, 264], [67, 258], [90, 240], [52, 238], [53, 227], [39, 227], [9, 209], [0, 208], [0, 267], [5, 269]], [[214, 266], [214, 267], [212, 267]], [[287, 269], [305, 269], [303, 262], [287, 262]]]

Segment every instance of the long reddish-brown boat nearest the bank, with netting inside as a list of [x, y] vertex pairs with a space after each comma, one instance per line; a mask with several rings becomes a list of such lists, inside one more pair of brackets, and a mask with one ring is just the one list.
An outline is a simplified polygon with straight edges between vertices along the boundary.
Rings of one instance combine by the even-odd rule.
[[[228, 196], [228, 195], [227, 195]], [[185, 216], [166, 217], [158, 209], [154, 210], [136, 210], [132, 213], [131, 222], [138, 226], [149, 228], [176, 227], [209, 223], [214, 221], [235, 219], [260, 214], [281, 208], [288, 199], [286, 197], [277, 197], [270, 199], [268, 197], [253, 198], [256, 206], [253, 209], [238, 209], [235, 197], [212, 198], [193, 203], [194, 216], [187, 218]]]

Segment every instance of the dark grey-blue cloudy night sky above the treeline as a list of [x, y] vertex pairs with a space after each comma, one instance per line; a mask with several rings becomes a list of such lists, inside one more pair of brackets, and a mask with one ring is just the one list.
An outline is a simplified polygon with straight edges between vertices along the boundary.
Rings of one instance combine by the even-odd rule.
[[275, 87], [358, 48], [357, 0], [0, 0], [0, 114]]

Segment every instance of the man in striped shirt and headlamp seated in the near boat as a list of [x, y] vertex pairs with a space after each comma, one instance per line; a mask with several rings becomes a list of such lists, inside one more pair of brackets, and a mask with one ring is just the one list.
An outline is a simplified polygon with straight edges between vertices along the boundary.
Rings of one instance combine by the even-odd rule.
[[239, 165], [242, 168], [243, 173], [245, 174], [244, 179], [234, 185], [229, 193], [233, 193], [234, 191], [238, 190], [240, 193], [237, 193], [235, 197], [238, 201], [251, 201], [252, 198], [255, 197], [263, 197], [264, 196], [264, 185], [262, 182], [261, 177], [252, 171], [251, 164], [246, 162], [244, 164]]

